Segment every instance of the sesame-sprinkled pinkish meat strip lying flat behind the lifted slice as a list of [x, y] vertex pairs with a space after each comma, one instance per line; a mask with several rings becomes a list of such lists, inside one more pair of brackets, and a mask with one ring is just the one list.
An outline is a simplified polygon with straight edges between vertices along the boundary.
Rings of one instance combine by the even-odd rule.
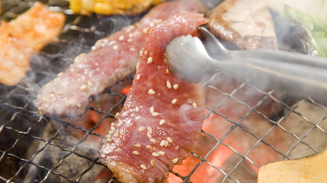
[[140, 22], [99, 40], [89, 53], [77, 56], [72, 65], [42, 88], [35, 101], [39, 113], [62, 117], [83, 114], [90, 96], [102, 93], [135, 73], [149, 27], [180, 11], [206, 10], [197, 0], [164, 2], [154, 7]]

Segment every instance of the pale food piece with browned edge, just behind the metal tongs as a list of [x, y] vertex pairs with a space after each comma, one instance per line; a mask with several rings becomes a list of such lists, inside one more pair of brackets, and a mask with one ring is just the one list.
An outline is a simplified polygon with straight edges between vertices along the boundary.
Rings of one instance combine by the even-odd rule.
[[215, 36], [240, 49], [277, 49], [272, 15], [264, 0], [225, 0], [210, 14]]

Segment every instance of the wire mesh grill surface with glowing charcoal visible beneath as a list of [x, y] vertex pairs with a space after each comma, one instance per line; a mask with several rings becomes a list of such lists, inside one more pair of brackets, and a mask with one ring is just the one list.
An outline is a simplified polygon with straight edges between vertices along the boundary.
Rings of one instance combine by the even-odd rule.
[[[56, 43], [45, 46], [31, 59], [32, 69], [20, 84], [0, 84], [0, 182], [117, 182], [97, 151], [101, 134], [107, 130], [105, 124], [114, 120], [126, 98], [119, 89], [128, 86], [131, 78], [95, 98], [89, 114], [98, 117], [96, 120], [49, 119], [38, 115], [32, 100], [40, 87], [68, 67], [78, 54], [89, 51], [97, 40], [133, 24], [142, 15], [82, 17], [71, 13], [66, 0], [41, 1], [52, 10], [65, 13], [66, 26]], [[33, 2], [2, 0], [0, 19], [10, 21]], [[202, 151], [192, 153], [190, 158], [194, 161], [188, 166], [189, 173], [171, 171], [170, 177], [180, 182], [201, 182], [195, 180], [201, 178], [197, 174], [210, 170], [219, 175], [217, 182], [255, 183], [256, 170], [265, 163], [258, 159], [293, 159], [327, 146], [327, 108], [319, 101], [282, 91], [263, 92], [218, 71], [208, 74], [205, 81], [206, 117], [214, 123], [207, 129], [214, 133], [207, 132], [204, 126], [198, 148]], [[227, 86], [224, 83], [228, 81], [232, 84]]]

